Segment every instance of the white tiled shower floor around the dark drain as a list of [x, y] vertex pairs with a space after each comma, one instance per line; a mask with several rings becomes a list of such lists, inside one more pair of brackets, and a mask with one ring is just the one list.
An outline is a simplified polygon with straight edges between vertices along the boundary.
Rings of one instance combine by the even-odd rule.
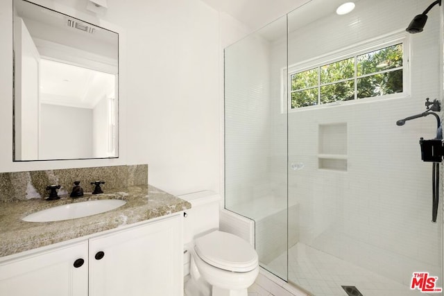
[[[410, 290], [408, 286], [303, 243], [297, 243], [289, 249], [288, 259], [289, 282], [316, 296], [348, 296], [341, 286], [355, 286], [364, 296], [443, 295]], [[287, 254], [284, 253], [271, 261], [267, 267], [271, 270], [282, 270], [286, 265]]]

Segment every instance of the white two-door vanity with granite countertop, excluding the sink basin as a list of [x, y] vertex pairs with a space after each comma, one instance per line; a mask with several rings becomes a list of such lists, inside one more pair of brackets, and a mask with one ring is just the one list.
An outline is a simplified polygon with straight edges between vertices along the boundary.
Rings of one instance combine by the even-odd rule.
[[45, 223], [22, 218], [46, 200], [1, 204], [0, 295], [182, 295], [182, 211], [191, 204], [153, 186], [85, 198], [126, 204]]

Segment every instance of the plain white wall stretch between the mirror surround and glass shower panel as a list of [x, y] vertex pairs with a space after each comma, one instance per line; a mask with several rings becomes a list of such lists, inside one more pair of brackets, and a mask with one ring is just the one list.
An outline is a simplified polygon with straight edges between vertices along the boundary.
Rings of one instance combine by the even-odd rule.
[[[121, 1], [128, 27], [128, 163], [171, 193], [219, 192], [219, 18], [200, 1]], [[111, 16], [108, 13], [108, 16]], [[130, 148], [129, 148], [130, 147]]]

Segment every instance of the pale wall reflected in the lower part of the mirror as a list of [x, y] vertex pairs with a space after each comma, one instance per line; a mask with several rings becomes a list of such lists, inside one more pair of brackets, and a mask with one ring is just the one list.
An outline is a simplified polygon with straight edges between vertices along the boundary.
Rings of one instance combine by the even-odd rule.
[[92, 156], [92, 110], [40, 104], [40, 159]]

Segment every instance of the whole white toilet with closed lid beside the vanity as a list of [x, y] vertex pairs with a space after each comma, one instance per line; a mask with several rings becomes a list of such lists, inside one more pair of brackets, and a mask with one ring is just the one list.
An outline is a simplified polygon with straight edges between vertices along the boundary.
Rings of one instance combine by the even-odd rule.
[[[259, 274], [257, 252], [243, 238], [219, 231], [220, 195], [180, 195], [184, 213], [184, 275], [187, 296], [247, 296]], [[189, 275], [189, 276], [188, 276]]]

